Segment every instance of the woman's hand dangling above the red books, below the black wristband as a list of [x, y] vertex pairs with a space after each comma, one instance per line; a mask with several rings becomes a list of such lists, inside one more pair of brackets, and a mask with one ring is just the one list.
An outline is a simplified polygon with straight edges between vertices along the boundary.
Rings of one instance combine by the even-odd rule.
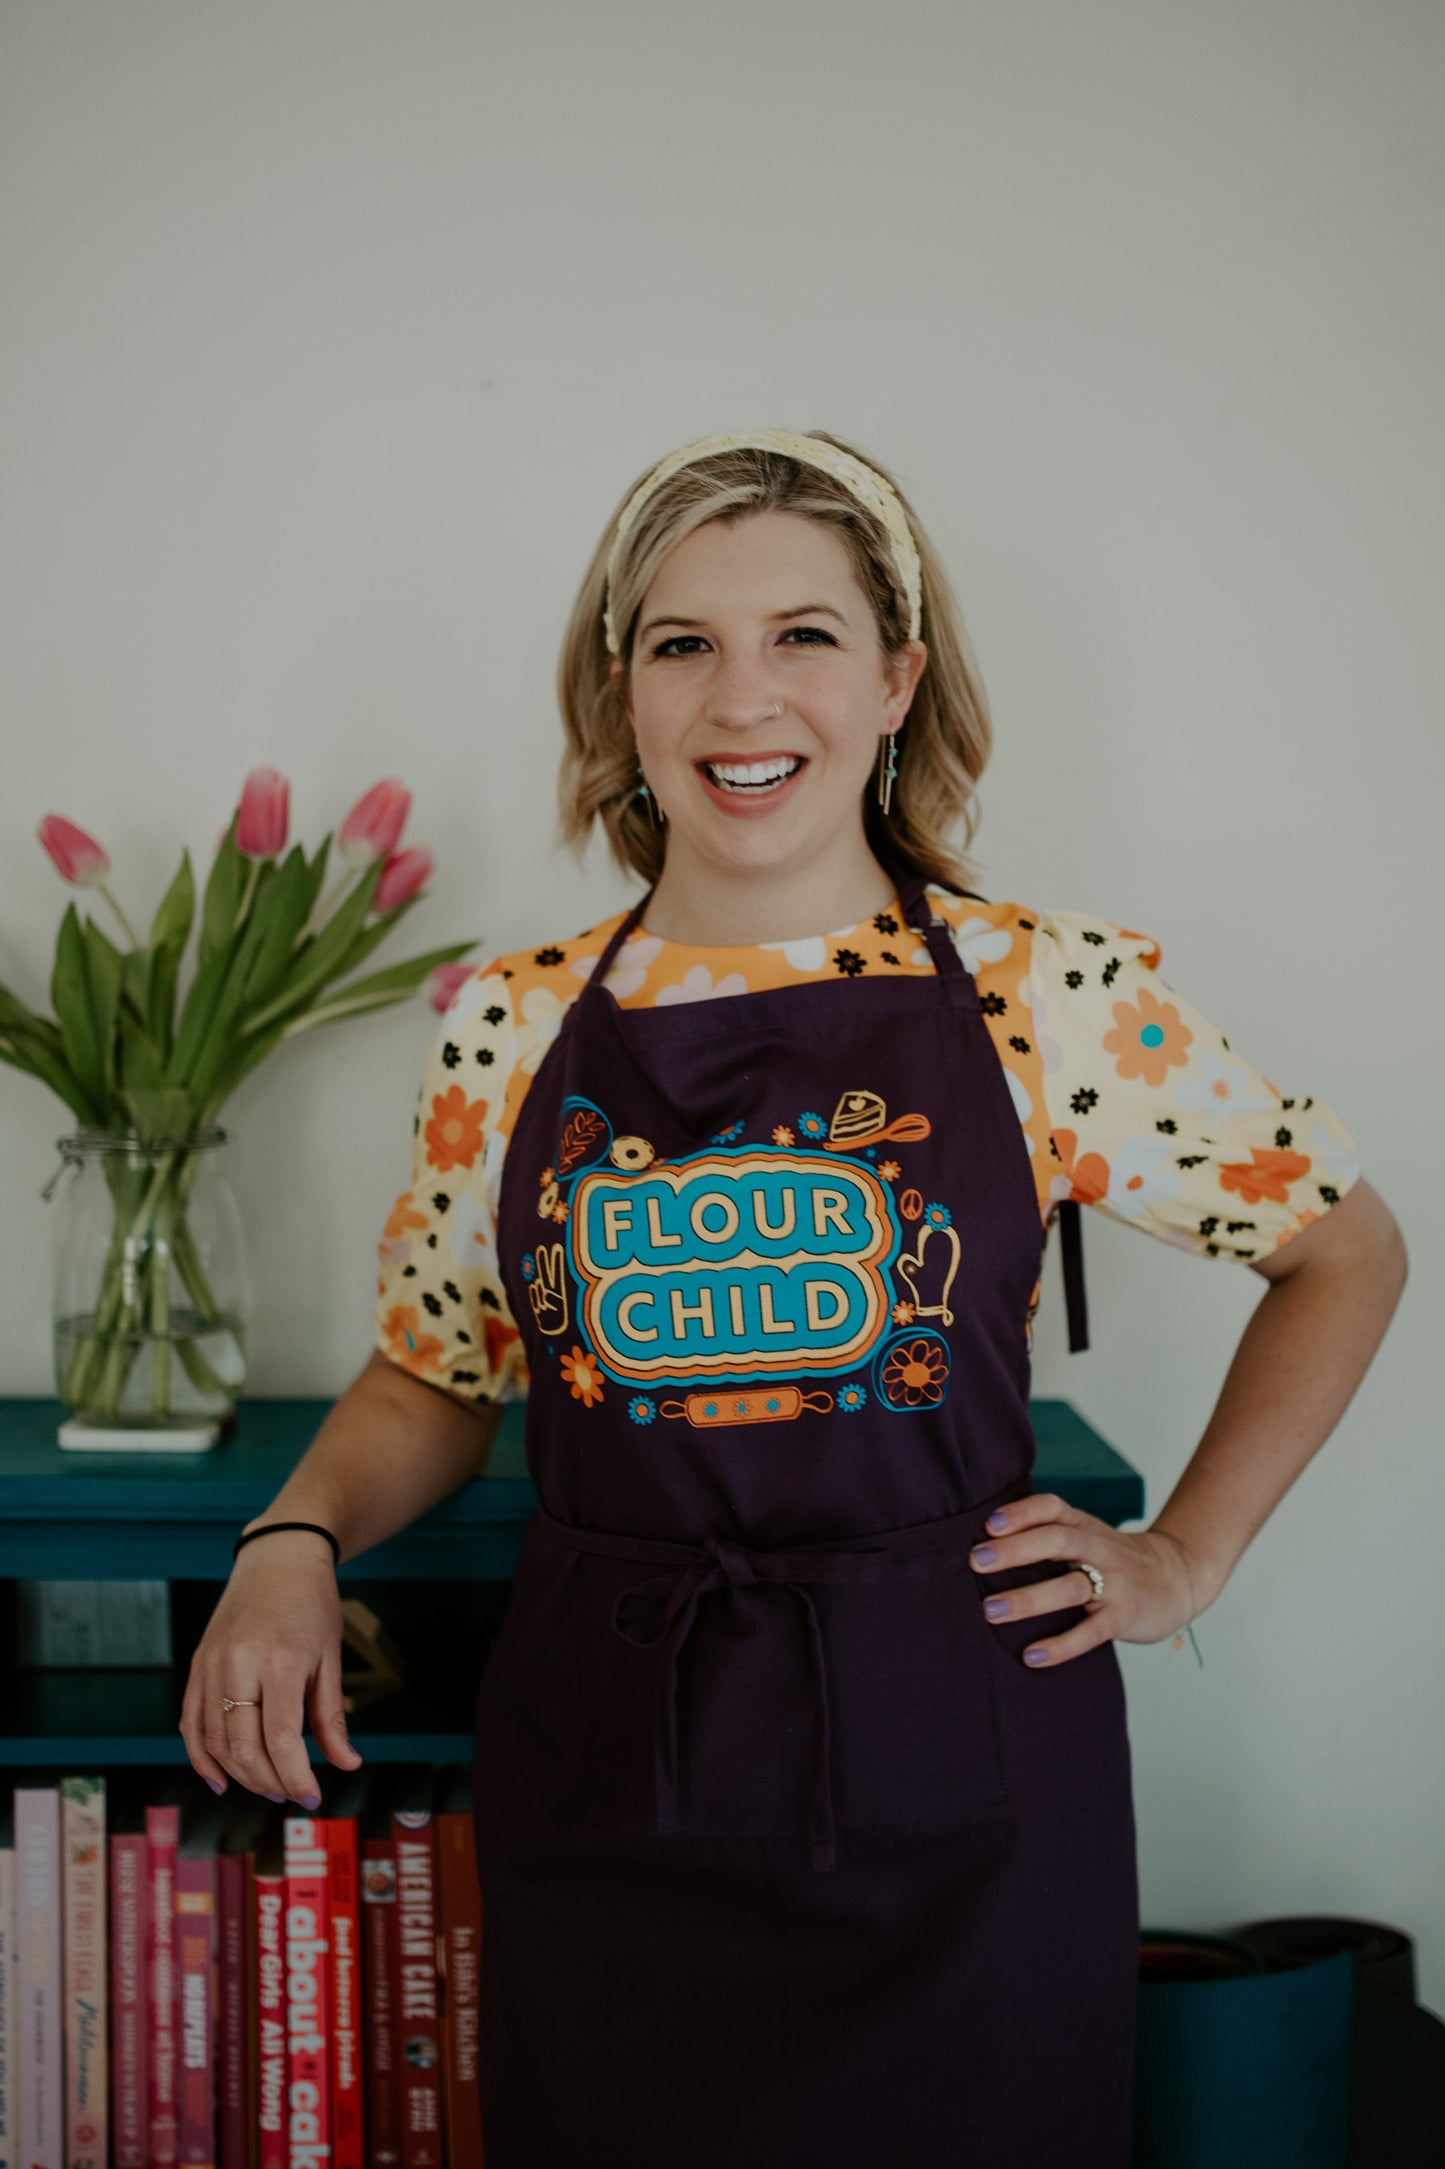
[[[286, 1529], [236, 1557], [187, 1681], [180, 1735], [213, 1792], [226, 1779], [312, 1811], [321, 1794], [302, 1727], [338, 1770], [360, 1755], [341, 1707], [341, 1590], [330, 1544]], [[221, 1703], [256, 1703], [223, 1711]]]

